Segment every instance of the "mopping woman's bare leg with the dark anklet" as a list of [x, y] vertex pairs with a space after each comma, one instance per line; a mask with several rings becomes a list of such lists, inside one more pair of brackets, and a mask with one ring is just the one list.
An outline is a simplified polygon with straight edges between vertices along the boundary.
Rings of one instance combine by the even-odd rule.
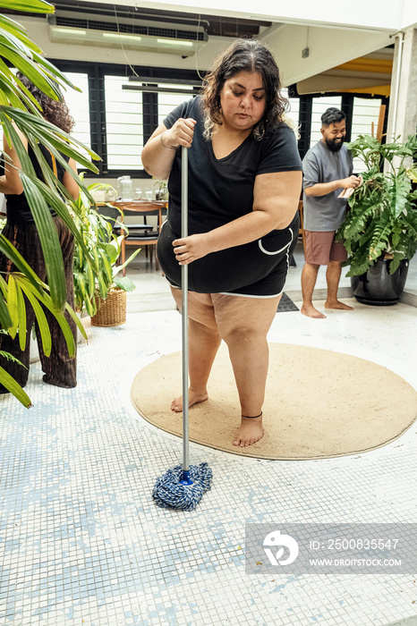
[[280, 296], [241, 298], [213, 294], [217, 327], [229, 349], [242, 409], [233, 444], [256, 443], [263, 435], [262, 405], [268, 374], [268, 330]]

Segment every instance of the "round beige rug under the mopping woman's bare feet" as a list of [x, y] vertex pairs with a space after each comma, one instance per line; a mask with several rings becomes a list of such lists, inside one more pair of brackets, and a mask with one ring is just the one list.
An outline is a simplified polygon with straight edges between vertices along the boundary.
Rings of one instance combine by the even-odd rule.
[[[246, 448], [232, 444], [240, 407], [225, 345], [209, 379], [209, 400], [191, 407], [190, 439], [262, 459], [322, 459], [389, 444], [417, 417], [417, 392], [387, 368], [347, 354], [270, 343], [265, 435]], [[132, 402], [151, 424], [183, 435], [183, 414], [170, 410], [182, 390], [181, 352], [143, 368]]]

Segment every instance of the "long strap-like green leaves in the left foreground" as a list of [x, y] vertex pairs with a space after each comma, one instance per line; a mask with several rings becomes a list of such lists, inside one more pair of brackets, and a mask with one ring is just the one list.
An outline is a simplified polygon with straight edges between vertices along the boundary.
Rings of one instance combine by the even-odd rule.
[[[0, 0], [0, 7], [29, 13], [54, 13], [55, 11], [54, 6], [45, 0]], [[72, 88], [71, 81], [45, 59], [42, 51], [28, 38], [21, 26], [5, 15], [0, 15], [0, 39], [2, 59], [9, 62], [9, 64], [2, 63], [0, 67], [0, 93], [2, 95], [0, 126], [3, 128], [6, 138], [12, 141], [21, 161], [21, 182], [38, 227], [48, 276], [47, 286], [39, 280], [25, 259], [15, 250], [12, 243], [0, 233], [0, 251], [6, 258], [11, 259], [19, 269], [19, 272], [8, 275], [7, 282], [4, 276], [0, 275], [0, 332], [10, 334], [13, 337], [18, 334], [21, 345], [23, 345], [27, 332], [30, 332], [25, 323], [26, 311], [23, 296], [26, 296], [37, 315], [45, 353], [48, 353], [51, 337], [44, 317], [41, 315], [39, 303], [47, 307], [60, 321], [69, 353], [72, 355], [75, 351], [75, 345], [70, 327], [64, 318], [65, 309], [75, 318], [81, 333], [84, 331], [75, 313], [69, 309], [65, 302], [64, 264], [55, 229], [51, 226], [52, 218], [49, 207], [53, 207], [55, 213], [64, 219], [65, 224], [71, 229], [80, 245], [83, 246], [84, 244], [80, 233], [73, 224], [66, 204], [66, 201], [71, 202], [71, 198], [52, 170], [47, 167], [45, 160], [42, 161], [38, 142], [50, 150], [56, 160], [80, 185], [82, 182], [77, 174], [72, 171], [71, 167], [68, 167], [60, 153], [63, 152], [68, 157], [73, 157], [75, 161], [96, 173], [98, 172], [97, 167], [91, 164], [88, 157], [81, 154], [79, 148], [87, 151], [90, 157], [99, 157], [89, 148], [83, 146], [80, 141], [74, 140], [64, 131], [43, 119], [38, 110], [37, 102], [29, 91], [22, 86], [21, 82], [15, 79], [13, 66], [25, 74], [49, 97], [55, 99], [60, 97], [57, 85], [64, 87], [64, 89], [65, 87]], [[28, 138], [42, 167], [45, 182], [38, 180], [28, 153], [19, 139], [13, 123]], [[95, 267], [95, 260], [89, 251], [85, 250], [85, 253], [89, 257], [90, 264]], [[2, 354], [2, 357], [7, 360], [8, 355]], [[0, 367], [0, 383], [13, 393], [21, 403], [30, 407], [31, 402], [28, 394], [2, 367]]]

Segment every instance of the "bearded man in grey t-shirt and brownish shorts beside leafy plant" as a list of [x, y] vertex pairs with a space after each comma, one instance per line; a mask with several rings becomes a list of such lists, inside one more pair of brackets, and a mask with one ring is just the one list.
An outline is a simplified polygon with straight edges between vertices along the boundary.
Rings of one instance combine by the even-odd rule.
[[346, 197], [350, 195], [345, 191], [345, 198], [341, 198], [340, 194], [359, 187], [362, 179], [353, 175], [352, 154], [343, 145], [345, 120], [343, 111], [328, 108], [321, 115], [321, 140], [310, 148], [302, 161], [305, 231], [302, 314], [308, 317], [326, 317], [312, 303], [319, 266], [328, 266], [325, 308], [352, 310], [337, 300], [342, 263], [347, 254], [343, 243], [335, 241], [335, 233], [345, 219]]

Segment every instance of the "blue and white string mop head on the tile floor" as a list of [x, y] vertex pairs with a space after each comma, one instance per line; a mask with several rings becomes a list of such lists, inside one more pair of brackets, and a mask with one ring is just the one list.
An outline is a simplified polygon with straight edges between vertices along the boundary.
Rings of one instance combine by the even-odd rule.
[[173, 469], [157, 478], [152, 497], [162, 509], [178, 509], [193, 511], [200, 502], [204, 492], [211, 488], [213, 472], [207, 463], [190, 465], [192, 485], [183, 485], [183, 466], [175, 465]]

